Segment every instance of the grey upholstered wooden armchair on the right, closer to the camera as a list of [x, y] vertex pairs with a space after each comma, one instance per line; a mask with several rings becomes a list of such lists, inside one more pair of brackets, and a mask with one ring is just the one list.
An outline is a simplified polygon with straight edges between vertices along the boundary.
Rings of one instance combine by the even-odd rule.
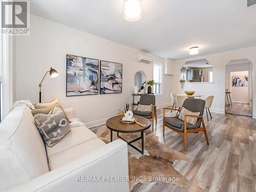
[[[198, 133], [198, 132], [204, 132], [205, 139], [207, 142], [207, 145], [209, 145], [207, 131], [204, 124], [203, 114], [204, 114], [204, 108], [205, 108], [205, 101], [202, 99], [186, 99], [182, 105], [182, 107], [186, 108], [187, 110], [191, 112], [200, 112], [200, 116], [196, 115], [185, 115], [184, 121], [179, 119], [179, 115], [176, 115], [175, 117], [165, 117], [165, 111], [166, 110], [176, 110], [180, 111], [178, 109], [171, 109], [171, 108], [164, 108], [163, 111], [163, 136], [164, 136], [164, 129], [165, 126], [169, 129], [175, 131], [176, 133], [180, 134], [184, 137], [184, 151], [187, 151], [187, 134], [188, 133]], [[196, 124], [192, 125], [187, 123], [187, 117], [198, 117], [198, 120]], [[201, 126], [202, 124], [202, 126]]]

